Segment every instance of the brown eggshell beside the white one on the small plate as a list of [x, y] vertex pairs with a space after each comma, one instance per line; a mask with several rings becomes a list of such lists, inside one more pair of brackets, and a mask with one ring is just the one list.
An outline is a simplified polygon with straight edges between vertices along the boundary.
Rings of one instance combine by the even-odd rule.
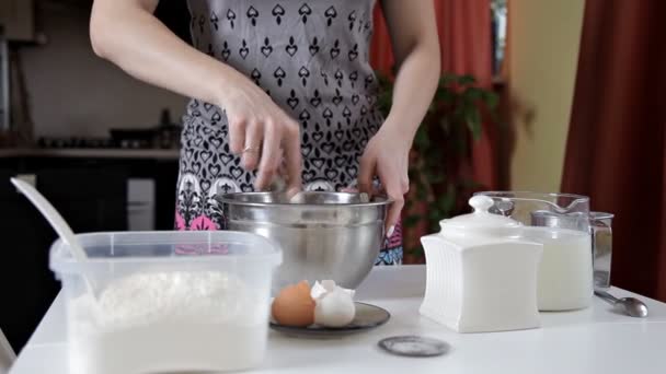
[[273, 318], [285, 326], [309, 326], [314, 323], [314, 300], [310, 284], [301, 281], [284, 288], [273, 301]]

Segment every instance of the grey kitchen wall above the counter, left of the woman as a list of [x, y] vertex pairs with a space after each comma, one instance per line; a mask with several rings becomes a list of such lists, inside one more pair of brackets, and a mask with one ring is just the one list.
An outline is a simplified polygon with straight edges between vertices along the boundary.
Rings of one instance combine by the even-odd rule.
[[184, 97], [134, 80], [92, 52], [89, 5], [38, 1], [38, 28], [48, 42], [21, 50], [35, 136], [106, 137], [110, 128], [151, 127], [164, 107], [180, 121]]

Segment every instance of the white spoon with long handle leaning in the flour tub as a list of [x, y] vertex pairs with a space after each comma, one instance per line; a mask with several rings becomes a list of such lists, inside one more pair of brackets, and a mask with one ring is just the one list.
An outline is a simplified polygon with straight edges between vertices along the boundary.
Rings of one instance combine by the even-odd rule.
[[[88, 255], [85, 254], [85, 250], [83, 250], [83, 247], [81, 247], [81, 244], [74, 236], [74, 233], [71, 231], [71, 227], [69, 226], [69, 224], [67, 224], [62, 215], [58, 213], [56, 208], [54, 208], [54, 206], [48, 202], [48, 200], [46, 200], [46, 198], [28, 183], [18, 178], [10, 178], [10, 180], [23, 195], [25, 195], [30, 202], [32, 202], [33, 206], [35, 206], [39, 210], [39, 212], [48, 221], [50, 226], [54, 227], [58, 236], [60, 236], [60, 239], [65, 242], [65, 244], [67, 244], [74, 259], [80, 262], [88, 261]], [[83, 280], [88, 285], [88, 291], [90, 291], [91, 294], [94, 294], [94, 292], [92, 292], [93, 283], [91, 282], [90, 278], [83, 276]]]

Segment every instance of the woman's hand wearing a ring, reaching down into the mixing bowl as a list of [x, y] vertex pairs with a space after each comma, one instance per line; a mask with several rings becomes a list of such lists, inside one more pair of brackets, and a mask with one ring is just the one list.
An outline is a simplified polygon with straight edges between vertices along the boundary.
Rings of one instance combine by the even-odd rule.
[[226, 80], [218, 105], [227, 113], [231, 152], [241, 155], [245, 170], [257, 170], [254, 187], [266, 189], [284, 166], [287, 194], [300, 190], [302, 160], [298, 124], [241, 73]]

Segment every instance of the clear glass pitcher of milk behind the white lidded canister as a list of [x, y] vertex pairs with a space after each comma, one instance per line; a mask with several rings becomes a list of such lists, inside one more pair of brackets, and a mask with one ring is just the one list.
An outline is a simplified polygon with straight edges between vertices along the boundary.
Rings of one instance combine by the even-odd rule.
[[479, 194], [495, 201], [491, 212], [521, 222], [526, 236], [543, 244], [537, 284], [539, 309], [588, 307], [594, 284], [589, 198], [527, 191]]

